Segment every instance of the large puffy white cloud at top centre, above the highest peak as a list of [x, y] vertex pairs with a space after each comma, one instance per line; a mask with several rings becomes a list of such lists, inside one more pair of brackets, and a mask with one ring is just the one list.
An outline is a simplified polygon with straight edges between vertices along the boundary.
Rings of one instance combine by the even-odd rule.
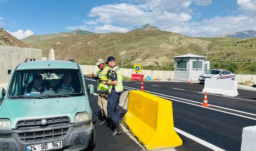
[[[181, 0], [184, 1], [184, 0]], [[151, 3], [152, 2], [152, 3]], [[159, 3], [151, 1], [147, 4], [133, 5], [133, 4], [116, 4], [116, 5], [102, 5], [91, 9], [90, 17], [98, 17], [95, 20], [87, 22], [104, 24], [118, 23], [120, 25], [131, 25], [131, 24], [169, 24], [173, 22], [186, 22], [189, 21], [192, 16], [186, 12], [177, 12], [178, 6], [173, 8], [173, 11], [167, 11], [172, 9], [166, 7], [165, 9], [159, 9]], [[154, 2], [154, 3], [153, 3]], [[165, 0], [163, 1], [165, 2]], [[161, 4], [159, 7], [163, 7]], [[180, 4], [182, 8], [186, 8], [189, 4]], [[170, 7], [174, 7], [171, 5]]]

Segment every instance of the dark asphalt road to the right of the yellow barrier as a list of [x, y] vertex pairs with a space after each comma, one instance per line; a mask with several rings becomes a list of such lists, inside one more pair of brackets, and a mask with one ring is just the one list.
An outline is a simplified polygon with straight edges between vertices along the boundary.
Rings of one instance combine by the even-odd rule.
[[[93, 81], [86, 81], [94, 84]], [[123, 85], [125, 90], [140, 90], [141, 87], [140, 82], [135, 81], [123, 82]], [[239, 96], [236, 98], [208, 94], [211, 106], [201, 107], [204, 93], [200, 91], [203, 87], [179, 82], [144, 82], [145, 90], [172, 101], [175, 128], [224, 150], [240, 150], [243, 128], [256, 125], [255, 92], [238, 89]], [[177, 150], [205, 150], [198, 148], [200, 145], [190, 138], [179, 135], [184, 145], [177, 147]]]

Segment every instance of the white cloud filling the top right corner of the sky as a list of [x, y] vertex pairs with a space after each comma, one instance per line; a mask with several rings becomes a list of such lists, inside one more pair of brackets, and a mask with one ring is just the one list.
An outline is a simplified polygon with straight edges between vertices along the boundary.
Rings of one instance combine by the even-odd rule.
[[236, 3], [245, 14], [256, 16], [256, 0], [237, 0]]

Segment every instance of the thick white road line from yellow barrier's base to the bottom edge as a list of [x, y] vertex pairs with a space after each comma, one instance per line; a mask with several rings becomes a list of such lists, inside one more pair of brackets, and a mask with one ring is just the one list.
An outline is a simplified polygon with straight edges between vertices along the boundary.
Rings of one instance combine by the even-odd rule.
[[180, 129], [177, 129], [177, 128], [174, 127], [174, 130], [175, 130], [177, 133], [180, 133], [180, 134], [186, 136], [187, 138], [190, 138], [190, 139], [196, 141], [197, 143], [202, 144], [203, 146], [206, 146], [206, 147], [208, 147], [208, 148], [211, 148], [212, 150], [225, 151], [225, 150], [223, 150], [223, 149], [221, 149], [221, 148], [219, 148], [219, 147], [217, 147], [217, 146], [215, 146], [215, 145], [213, 145], [213, 144], [211, 144], [211, 143], [208, 143], [208, 142], [206, 142], [206, 141], [204, 141], [204, 140], [201, 140], [201, 139], [199, 139], [199, 138], [197, 138], [197, 137], [195, 137], [195, 136], [193, 136], [193, 135], [191, 135], [191, 134], [188, 134], [188, 133], [186, 133], [186, 132], [184, 132], [184, 131], [182, 131], [182, 130], [180, 130]]

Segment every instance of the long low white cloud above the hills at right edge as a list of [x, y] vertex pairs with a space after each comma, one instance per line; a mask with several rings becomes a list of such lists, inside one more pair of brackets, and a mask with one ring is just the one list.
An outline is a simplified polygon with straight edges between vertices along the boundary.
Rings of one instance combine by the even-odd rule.
[[183, 23], [177, 26], [163, 27], [163, 30], [194, 37], [217, 37], [227, 33], [256, 30], [256, 17], [216, 16], [201, 22]]

